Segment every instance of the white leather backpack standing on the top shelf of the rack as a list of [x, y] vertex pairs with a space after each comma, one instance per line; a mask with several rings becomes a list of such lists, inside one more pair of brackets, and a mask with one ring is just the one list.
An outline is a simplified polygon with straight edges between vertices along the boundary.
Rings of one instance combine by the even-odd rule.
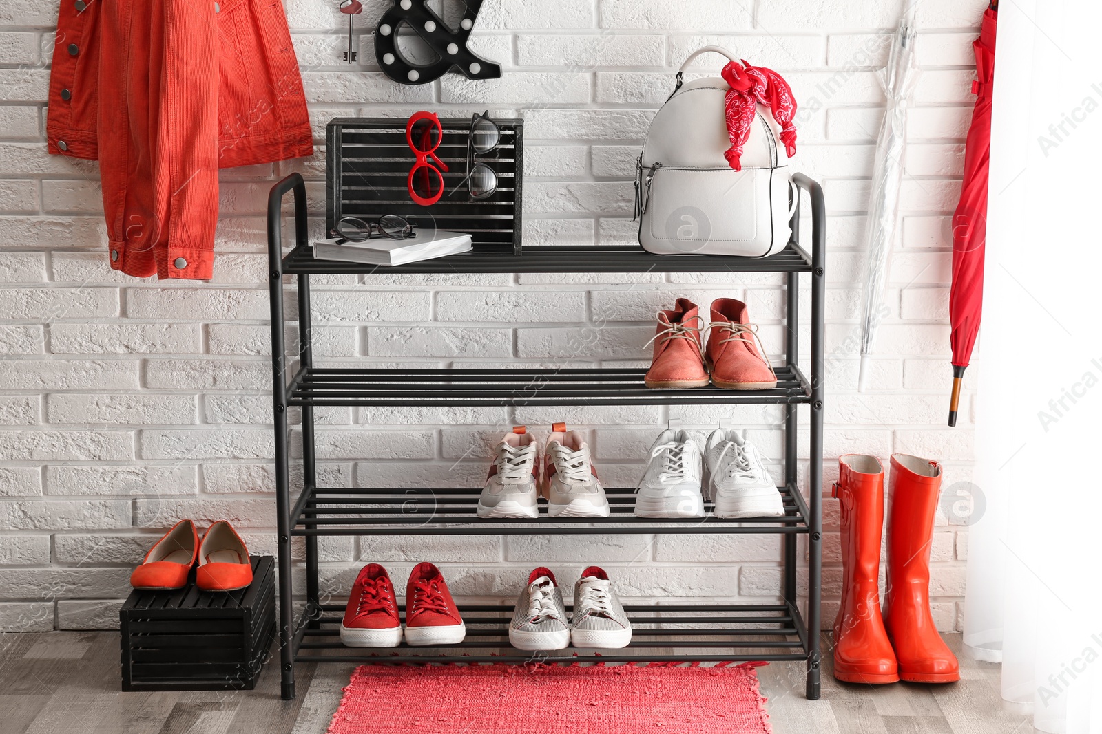
[[719, 46], [690, 54], [678, 70], [678, 87], [647, 131], [635, 182], [639, 244], [662, 255], [769, 255], [788, 243], [798, 200], [795, 190], [789, 194], [780, 128], [769, 108], [758, 105], [742, 171], [731, 167], [724, 157], [731, 146], [724, 113], [731, 87], [719, 77], [681, 84], [689, 63], [709, 51], [736, 61]]

